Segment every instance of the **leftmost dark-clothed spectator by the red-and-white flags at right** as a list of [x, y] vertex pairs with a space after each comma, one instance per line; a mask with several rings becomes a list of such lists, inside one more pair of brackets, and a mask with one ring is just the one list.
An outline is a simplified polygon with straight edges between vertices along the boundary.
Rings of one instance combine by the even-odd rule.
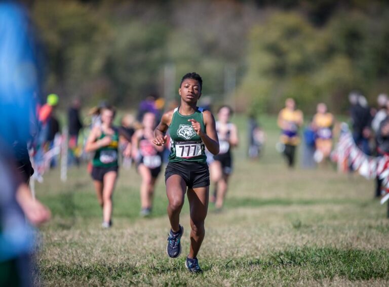
[[353, 138], [362, 151], [370, 155], [369, 138], [372, 116], [366, 98], [357, 92], [348, 95], [351, 103], [350, 114], [353, 127]]

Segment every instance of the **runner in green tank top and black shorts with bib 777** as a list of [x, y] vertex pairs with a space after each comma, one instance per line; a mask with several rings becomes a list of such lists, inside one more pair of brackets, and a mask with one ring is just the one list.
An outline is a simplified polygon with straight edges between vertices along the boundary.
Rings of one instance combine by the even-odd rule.
[[193, 273], [201, 272], [197, 254], [205, 235], [204, 221], [209, 201], [209, 171], [205, 148], [212, 154], [219, 152], [215, 119], [210, 111], [197, 107], [202, 84], [203, 80], [197, 73], [187, 73], [182, 77], [178, 90], [181, 105], [162, 116], [153, 140], [158, 146], [165, 144], [165, 133], [169, 129], [171, 152], [165, 181], [171, 230], [167, 253], [172, 258], [181, 253], [180, 239], [184, 229], [179, 220], [187, 190], [191, 232], [185, 266]]

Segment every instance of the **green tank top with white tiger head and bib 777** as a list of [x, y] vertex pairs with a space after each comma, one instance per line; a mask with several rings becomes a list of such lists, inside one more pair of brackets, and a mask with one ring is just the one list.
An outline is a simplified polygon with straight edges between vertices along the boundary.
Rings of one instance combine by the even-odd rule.
[[206, 163], [205, 145], [201, 137], [193, 130], [192, 123], [188, 119], [196, 119], [200, 122], [203, 132], [205, 125], [203, 120], [203, 108], [197, 108], [191, 115], [182, 115], [178, 108], [174, 109], [172, 122], [169, 126], [170, 134], [170, 162], [191, 161]]

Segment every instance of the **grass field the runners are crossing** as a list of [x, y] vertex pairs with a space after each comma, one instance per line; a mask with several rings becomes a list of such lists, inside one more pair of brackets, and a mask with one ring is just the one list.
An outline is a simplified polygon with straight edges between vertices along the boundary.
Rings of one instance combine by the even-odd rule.
[[44, 285], [389, 285], [389, 221], [373, 199], [372, 181], [321, 170], [288, 170], [275, 150], [274, 117], [262, 119], [267, 144], [258, 161], [245, 156], [246, 126], [235, 152], [235, 173], [225, 208], [210, 206], [199, 254], [204, 273], [191, 275], [188, 206], [183, 252], [166, 255], [169, 221], [163, 176], [153, 215], [139, 217], [140, 178], [121, 170], [113, 202], [113, 227], [102, 230], [101, 210], [86, 167], [45, 175], [37, 197], [53, 218], [41, 228], [37, 255]]

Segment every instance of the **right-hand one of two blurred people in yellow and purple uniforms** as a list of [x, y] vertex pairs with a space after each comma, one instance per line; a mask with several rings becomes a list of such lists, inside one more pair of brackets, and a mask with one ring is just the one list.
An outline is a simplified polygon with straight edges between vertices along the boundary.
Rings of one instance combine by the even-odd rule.
[[332, 127], [334, 125], [334, 116], [327, 111], [327, 105], [319, 103], [317, 113], [313, 118], [313, 125], [316, 131], [315, 146], [316, 152], [314, 158], [317, 162], [325, 161], [332, 149]]

